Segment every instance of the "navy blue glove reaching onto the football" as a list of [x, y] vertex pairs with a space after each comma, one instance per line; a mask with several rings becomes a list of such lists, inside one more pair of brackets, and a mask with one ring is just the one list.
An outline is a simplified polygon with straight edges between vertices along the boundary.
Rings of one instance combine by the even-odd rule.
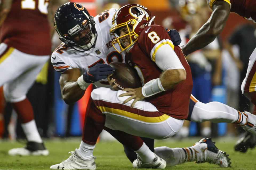
[[94, 83], [107, 78], [114, 70], [115, 68], [110, 65], [98, 63], [83, 74], [83, 80], [86, 83]]

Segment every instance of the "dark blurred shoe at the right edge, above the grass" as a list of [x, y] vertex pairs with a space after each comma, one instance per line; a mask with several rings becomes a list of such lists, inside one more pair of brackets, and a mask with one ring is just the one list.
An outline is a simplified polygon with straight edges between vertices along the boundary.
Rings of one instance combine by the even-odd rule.
[[243, 134], [234, 146], [235, 151], [246, 152], [248, 148], [254, 148], [256, 145], [256, 136], [248, 131]]

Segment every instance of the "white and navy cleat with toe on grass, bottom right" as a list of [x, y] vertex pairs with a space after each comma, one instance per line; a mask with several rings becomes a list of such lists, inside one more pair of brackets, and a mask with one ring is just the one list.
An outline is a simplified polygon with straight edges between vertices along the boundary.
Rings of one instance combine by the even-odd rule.
[[219, 150], [211, 141], [211, 138], [203, 138], [193, 145], [193, 149], [198, 153], [198, 161], [196, 163], [208, 162], [217, 164], [220, 167], [230, 167], [230, 158], [226, 152]]

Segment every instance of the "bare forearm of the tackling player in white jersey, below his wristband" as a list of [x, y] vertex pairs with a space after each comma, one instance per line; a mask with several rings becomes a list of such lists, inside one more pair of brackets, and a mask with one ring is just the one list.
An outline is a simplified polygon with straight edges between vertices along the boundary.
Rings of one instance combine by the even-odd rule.
[[62, 98], [66, 104], [72, 104], [80, 100], [85, 94], [85, 90], [82, 90], [80, 86], [75, 82], [67, 82], [62, 89]]

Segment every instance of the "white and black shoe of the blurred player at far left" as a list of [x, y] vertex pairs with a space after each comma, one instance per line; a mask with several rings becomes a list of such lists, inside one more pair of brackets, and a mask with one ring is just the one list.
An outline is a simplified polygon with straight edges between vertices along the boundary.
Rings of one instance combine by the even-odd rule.
[[45, 148], [43, 143], [27, 142], [27, 145], [23, 148], [13, 148], [8, 151], [9, 155], [49, 155], [49, 151]]

